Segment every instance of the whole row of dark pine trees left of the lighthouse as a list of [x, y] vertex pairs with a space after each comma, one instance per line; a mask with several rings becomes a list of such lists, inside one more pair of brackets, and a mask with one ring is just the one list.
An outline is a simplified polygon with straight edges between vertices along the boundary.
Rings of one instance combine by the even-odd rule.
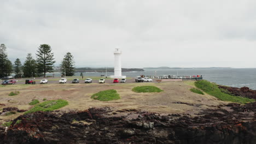
[[[51, 52], [51, 46], [42, 44], [38, 47], [36, 59], [32, 57], [32, 53], [27, 53], [26, 60], [22, 65], [19, 58], [13, 63], [8, 59], [7, 47], [4, 44], [0, 45], [0, 78], [15, 74], [15, 78], [21, 77], [38, 77], [46, 76], [46, 73], [54, 71], [54, 53]], [[60, 64], [62, 75], [74, 75], [74, 57], [70, 52], [67, 52]]]

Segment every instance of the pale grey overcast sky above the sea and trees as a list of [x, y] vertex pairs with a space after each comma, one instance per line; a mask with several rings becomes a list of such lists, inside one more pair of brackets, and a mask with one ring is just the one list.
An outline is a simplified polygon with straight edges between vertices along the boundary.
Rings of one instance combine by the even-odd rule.
[[59, 65], [256, 68], [256, 1], [0, 0], [0, 44], [25, 61], [49, 44]]

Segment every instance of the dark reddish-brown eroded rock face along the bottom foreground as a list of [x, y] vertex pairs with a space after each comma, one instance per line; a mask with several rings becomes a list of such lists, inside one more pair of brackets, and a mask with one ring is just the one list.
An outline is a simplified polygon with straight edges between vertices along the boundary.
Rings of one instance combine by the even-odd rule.
[[136, 110], [113, 115], [108, 107], [68, 113], [36, 112], [14, 119], [4, 142], [255, 143], [255, 105], [247, 104], [245, 112], [244, 106], [229, 104], [197, 117]]

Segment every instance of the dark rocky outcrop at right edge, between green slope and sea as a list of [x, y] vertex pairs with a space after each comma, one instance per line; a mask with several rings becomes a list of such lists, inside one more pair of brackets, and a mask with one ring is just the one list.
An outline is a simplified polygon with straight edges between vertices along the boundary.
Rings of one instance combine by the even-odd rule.
[[249, 89], [248, 87], [226, 87], [226, 86], [219, 86], [219, 88], [226, 89], [232, 95], [246, 97], [250, 99], [256, 99], [256, 90]]

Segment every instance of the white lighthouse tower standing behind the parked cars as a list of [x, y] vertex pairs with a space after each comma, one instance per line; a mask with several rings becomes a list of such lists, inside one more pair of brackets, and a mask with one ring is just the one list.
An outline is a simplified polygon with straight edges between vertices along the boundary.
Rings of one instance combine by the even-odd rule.
[[111, 78], [117, 79], [124, 79], [126, 76], [122, 76], [122, 69], [121, 69], [121, 50], [115, 49], [114, 56], [115, 56], [115, 68], [114, 68], [114, 75], [110, 75]]

